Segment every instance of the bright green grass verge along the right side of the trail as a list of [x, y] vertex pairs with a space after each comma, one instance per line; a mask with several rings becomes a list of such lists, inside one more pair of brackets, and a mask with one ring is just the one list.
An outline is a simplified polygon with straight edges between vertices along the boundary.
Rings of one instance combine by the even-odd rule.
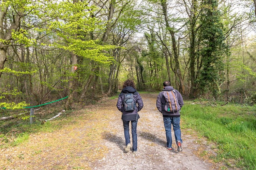
[[234, 159], [236, 167], [256, 169], [255, 111], [255, 107], [201, 107], [186, 103], [181, 112], [182, 126], [194, 129], [217, 143], [219, 152], [214, 158], [216, 162]]

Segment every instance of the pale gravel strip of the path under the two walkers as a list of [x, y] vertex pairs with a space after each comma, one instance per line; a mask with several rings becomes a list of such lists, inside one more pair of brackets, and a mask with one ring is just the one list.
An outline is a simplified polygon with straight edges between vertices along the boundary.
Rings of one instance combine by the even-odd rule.
[[[190, 135], [183, 135], [183, 151], [177, 152], [165, 148], [166, 137], [163, 117], [156, 109], [157, 94], [142, 94], [144, 107], [139, 112], [140, 119], [137, 125], [138, 151], [124, 153], [125, 139], [123, 134], [121, 113], [116, 111], [109, 121], [108, 133], [105, 134], [103, 144], [109, 148], [109, 153], [103, 159], [91, 165], [92, 169], [213, 169], [213, 165], [204, 162], [193, 154], [199, 145]], [[113, 103], [115, 104], [115, 103]], [[182, 117], [181, 117], [182, 120]], [[182, 133], [182, 130], [181, 130]], [[130, 136], [131, 124], [130, 124]], [[131, 140], [132, 141], [132, 140]], [[172, 130], [172, 141], [175, 141]]]

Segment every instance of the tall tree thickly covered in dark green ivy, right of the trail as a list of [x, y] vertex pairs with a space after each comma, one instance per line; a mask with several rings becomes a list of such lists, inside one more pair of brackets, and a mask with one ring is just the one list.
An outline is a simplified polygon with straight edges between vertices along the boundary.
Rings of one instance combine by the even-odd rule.
[[205, 0], [205, 8], [200, 16], [200, 55], [202, 68], [198, 77], [198, 88], [202, 94], [210, 91], [214, 96], [220, 94], [220, 84], [223, 80], [226, 51], [223, 36], [223, 24], [216, 0]]

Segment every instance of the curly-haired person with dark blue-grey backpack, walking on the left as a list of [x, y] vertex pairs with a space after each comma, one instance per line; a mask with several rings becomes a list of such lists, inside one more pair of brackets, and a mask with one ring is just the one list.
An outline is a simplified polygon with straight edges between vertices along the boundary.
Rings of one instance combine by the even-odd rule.
[[142, 109], [143, 102], [135, 89], [135, 84], [133, 80], [126, 80], [123, 83], [123, 89], [118, 96], [117, 108], [122, 112], [122, 121], [124, 129], [124, 138], [125, 138], [125, 152], [129, 152], [131, 148], [130, 133], [129, 133], [129, 124], [131, 121], [132, 125], [132, 150], [133, 153], [137, 153], [137, 123], [139, 114], [138, 112]]

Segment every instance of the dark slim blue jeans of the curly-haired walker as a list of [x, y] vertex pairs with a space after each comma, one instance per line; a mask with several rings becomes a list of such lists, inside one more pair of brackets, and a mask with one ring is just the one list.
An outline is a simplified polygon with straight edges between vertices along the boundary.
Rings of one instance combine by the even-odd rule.
[[[133, 151], [137, 151], [137, 123], [138, 123], [138, 120], [131, 120], [131, 122], [132, 122]], [[129, 123], [130, 123], [130, 121], [123, 120], [125, 145], [128, 145], [128, 143], [131, 143], [130, 133], [129, 133]]]

